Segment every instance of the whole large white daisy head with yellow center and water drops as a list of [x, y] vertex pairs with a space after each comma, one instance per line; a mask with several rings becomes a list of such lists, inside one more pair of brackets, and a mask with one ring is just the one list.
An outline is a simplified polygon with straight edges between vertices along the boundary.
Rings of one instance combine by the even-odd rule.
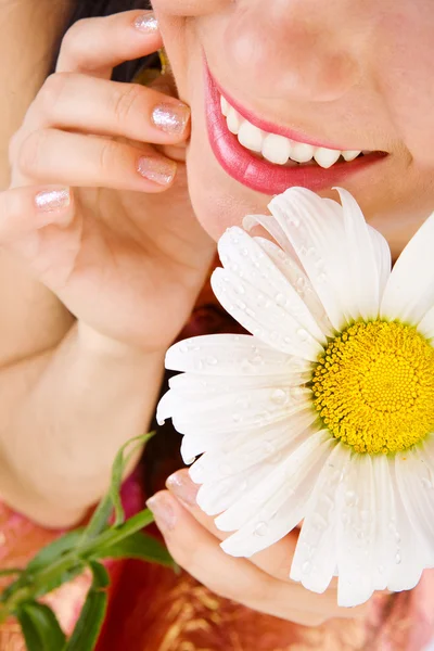
[[183, 434], [197, 502], [250, 557], [303, 519], [291, 578], [339, 603], [434, 566], [434, 215], [391, 272], [355, 200], [301, 188], [230, 228], [213, 289], [250, 335], [170, 348], [158, 419]]

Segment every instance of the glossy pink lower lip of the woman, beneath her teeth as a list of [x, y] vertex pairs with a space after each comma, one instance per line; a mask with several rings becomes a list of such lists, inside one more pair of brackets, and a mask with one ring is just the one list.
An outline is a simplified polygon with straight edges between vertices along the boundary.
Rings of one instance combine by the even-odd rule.
[[220, 92], [205, 64], [205, 111], [210, 146], [221, 167], [243, 186], [263, 194], [280, 194], [294, 186], [312, 191], [339, 184], [360, 170], [384, 159], [381, 152], [373, 152], [350, 163], [336, 163], [329, 169], [317, 165], [283, 167], [252, 155], [243, 148], [237, 136], [228, 130], [221, 113]]

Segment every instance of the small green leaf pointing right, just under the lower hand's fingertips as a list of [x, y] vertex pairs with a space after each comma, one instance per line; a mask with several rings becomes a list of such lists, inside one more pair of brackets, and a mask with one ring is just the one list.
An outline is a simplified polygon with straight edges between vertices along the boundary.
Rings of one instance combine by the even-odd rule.
[[142, 561], [158, 563], [166, 567], [174, 567], [175, 562], [159, 540], [137, 532], [128, 538], [118, 540], [113, 545], [101, 547], [97, 551], [99, 560], [102, 559], [141, 559]]

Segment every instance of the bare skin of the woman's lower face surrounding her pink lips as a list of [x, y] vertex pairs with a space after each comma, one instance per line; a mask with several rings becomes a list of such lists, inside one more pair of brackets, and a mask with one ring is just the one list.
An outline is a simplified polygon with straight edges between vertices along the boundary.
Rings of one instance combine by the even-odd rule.
[[[203, 59], [242, 106], [379, 166], [342, 182], [394, 257], [434, 207], [431, 0], [154, 0], [179, 95], [192, 110], [190, 196], [217, 239], [269, 196], [233, 180], [206, 132]], [[330, 189], [321, 192], [336, 197]]]

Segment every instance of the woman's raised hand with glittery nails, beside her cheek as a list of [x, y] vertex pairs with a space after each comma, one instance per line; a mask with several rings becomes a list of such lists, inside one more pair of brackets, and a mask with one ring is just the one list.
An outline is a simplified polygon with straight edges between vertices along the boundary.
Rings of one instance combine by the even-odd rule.
[[145, 353], [177, 335], [214, 253], [181, 162], [189, 108], [110, 80], [113, 66], [161, 46], [151, 12], [75, 24], [12, 140], [12, 186], [0, 194], [0, 245], [85, 332]]

